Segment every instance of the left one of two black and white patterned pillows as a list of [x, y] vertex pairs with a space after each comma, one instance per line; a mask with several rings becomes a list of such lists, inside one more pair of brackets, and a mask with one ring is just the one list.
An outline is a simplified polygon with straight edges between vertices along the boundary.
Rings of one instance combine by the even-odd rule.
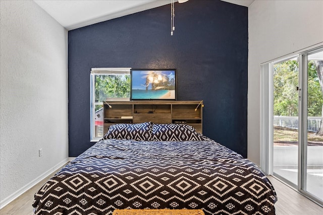
[[150, 140], [152, 122], [143, 122], [135, 124], [113, 124], [104, 134], [103, 139], [134, 139]]

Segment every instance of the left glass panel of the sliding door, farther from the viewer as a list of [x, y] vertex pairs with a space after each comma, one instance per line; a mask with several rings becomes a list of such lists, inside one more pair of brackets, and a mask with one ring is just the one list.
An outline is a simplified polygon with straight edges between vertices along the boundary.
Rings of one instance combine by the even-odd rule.
[[274, 82], [273, 172], [297, 186], [298, 181], [298, 82], [296, 57], [276, 62]]

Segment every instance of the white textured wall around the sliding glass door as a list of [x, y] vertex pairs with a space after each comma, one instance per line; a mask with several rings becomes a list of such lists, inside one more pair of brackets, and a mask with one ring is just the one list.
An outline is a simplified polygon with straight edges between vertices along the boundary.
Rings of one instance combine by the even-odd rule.
[[248, 158], [260, 164], [260, 63], [323, 42], [323, 1], [256, 0], [248, 21]]

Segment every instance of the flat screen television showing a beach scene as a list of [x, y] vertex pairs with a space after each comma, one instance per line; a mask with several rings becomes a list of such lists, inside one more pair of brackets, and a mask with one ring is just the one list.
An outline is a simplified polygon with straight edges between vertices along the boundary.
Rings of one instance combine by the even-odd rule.
[[130, 100], [176, 100], [176, 69], [130, 69]]

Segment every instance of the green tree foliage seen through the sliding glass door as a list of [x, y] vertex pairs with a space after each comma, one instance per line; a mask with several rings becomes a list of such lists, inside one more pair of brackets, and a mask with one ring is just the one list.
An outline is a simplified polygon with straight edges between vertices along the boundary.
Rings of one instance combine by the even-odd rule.
[[[274, 115], [298, 116], [298, 62], [287, 60], [274, 65]], [[308, 62], [308, 116], [322, 115], [323, 94], [315, 61]]]

